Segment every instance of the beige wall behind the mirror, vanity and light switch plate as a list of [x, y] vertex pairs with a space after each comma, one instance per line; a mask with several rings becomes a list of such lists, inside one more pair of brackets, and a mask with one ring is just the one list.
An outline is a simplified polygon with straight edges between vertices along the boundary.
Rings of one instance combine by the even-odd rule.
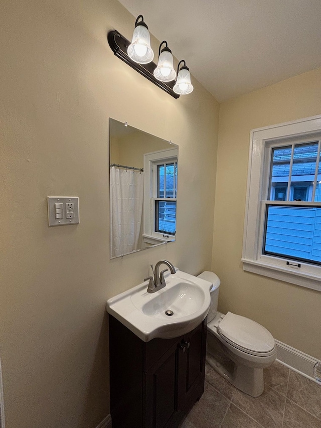
[[[94, 428], [109, 413], [106, 300], [162, 258], [211, 266], [219, 106], [195, 79], [176, 100], [114, 56], [107, 31], [130, 38], [135, 22], [115, 0], [3, 0], [0, 20], [6, 428]], [[109, 117], [180, 147], [177, 241], [114, 260]], [[79, 196], [80, 224], [49, 228], [48, 195]]]

